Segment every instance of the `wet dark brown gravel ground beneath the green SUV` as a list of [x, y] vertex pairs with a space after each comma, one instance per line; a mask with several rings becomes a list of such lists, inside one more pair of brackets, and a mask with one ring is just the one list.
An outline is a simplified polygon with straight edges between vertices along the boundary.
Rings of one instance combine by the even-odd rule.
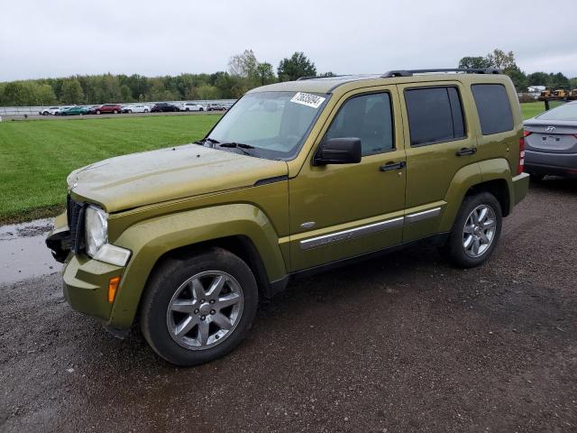
[[435, 248], [296, 281], [250, 336], [178, 369], [69, 309], [60, 277], [0, 286], [0, 431], [577, 431], [577, 181], [545, 180], [490, 262]]

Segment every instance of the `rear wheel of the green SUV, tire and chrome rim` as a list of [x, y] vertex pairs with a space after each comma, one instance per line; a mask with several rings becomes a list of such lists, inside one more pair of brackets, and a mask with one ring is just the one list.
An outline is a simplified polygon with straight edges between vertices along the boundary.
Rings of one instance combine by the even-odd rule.
[[489, 192], [466, 197], [455, 218], [444, 253], [456, 266], [484, 263], [499, 242], [503, 217], [499, 201]]

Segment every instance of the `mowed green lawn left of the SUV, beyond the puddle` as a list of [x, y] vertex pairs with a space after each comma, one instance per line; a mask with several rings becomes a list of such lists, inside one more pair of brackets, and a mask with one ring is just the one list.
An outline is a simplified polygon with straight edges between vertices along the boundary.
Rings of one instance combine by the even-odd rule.
[[66, 177], [125, 153], [191, 143], [220, 115], [161, 115], [0, 123], [0, 224], [55, 215]]

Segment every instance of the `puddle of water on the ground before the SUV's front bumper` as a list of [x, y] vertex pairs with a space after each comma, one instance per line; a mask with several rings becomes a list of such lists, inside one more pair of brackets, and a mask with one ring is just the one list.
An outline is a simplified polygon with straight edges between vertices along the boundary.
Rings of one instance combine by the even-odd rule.
[[53, 272], [62, 265], [44, 243], [52, 219], [0, 226], [0, 284], [22, 281]]

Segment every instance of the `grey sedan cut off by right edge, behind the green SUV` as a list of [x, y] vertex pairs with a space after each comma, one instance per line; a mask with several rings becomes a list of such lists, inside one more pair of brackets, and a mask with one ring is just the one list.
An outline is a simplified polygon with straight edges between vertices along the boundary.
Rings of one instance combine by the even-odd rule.
[[577, 101], [526, 120], [525, 171], [533, 180], [546, 175], [577, 177]]

